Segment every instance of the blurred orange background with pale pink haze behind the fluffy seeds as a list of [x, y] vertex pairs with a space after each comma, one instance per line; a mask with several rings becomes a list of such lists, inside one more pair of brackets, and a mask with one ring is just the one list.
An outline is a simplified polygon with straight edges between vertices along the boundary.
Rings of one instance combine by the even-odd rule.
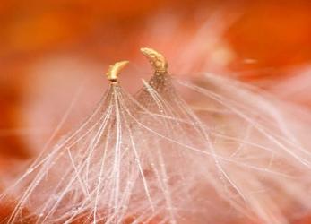
[[299, 0], [2, 0], [1, 173], [38, 154], [66, 112], [58, 135], [91, 111], [109, 64], [130, 59], [122, 81], [138, 90], [150, 73], [139, 47], [158, 49], [189, 79], [226, 73], [269, 89], [297, 75], [311, 61], [310, 12]]

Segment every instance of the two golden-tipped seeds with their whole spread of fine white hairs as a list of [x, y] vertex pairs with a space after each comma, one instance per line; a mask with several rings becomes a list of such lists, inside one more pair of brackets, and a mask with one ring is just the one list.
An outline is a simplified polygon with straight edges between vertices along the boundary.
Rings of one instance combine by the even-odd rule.
[[[269, 223], [311, 206], [303, 111], [228, 78], [174, 80], [158, 52], [134, 96], [110, 85], [91, 116], [0, 196], [4, 223]], [[174, 85], [186, 88], [191, 107]]]

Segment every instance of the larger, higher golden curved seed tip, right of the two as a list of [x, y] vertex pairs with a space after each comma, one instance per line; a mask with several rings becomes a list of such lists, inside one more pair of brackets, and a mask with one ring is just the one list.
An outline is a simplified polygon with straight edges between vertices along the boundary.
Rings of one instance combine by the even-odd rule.
[[146, 56], [149, 59], [156, 73], [158, 74], [168, 73], [167, 60], [159, 52], [148, 47], [141, 48], [141, 52], [143, 53], [144, 56]]

